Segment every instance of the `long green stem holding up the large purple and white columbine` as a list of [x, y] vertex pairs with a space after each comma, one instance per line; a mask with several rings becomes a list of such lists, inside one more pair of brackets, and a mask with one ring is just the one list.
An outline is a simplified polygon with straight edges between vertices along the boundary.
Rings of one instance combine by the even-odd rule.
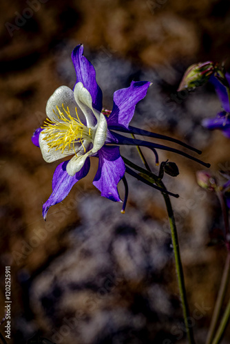
[[[123, 157], [122, 157], [123, 158]], [[140, 166], [137, 166], [133, 162], [130, 162], [126, 158], [123, 158], [125, 164], [129, 165], [133, 169], [136, 169], [136, 171], [139, 171], [140, 173], [144, 174], [146, 179], [150, 180], [151, 182], [155, 183], [157, 186], [160, 186], [163, 189], [165, 188], [165, 185], [163, 184], [162, 180], [158, 178], [158, 176], [154, 175], [154, 173], [150, 171], [146, 171]], [[182, 311], [183, 311], [183, 316], [185, 319], [185, 327], [186, 327], [186, 332], [187, 332], [187, 338], [189, 344], [195, 344], [194, 341], [194, 334], [191, 326], [189, 326], [189, 305], [187, 303], [187, 295], [186, 295], [186, 289], [185, 289], [185, 279], [184, 279], [184, 273], [182, 269], [182, 263], [180, 259], [180, 248], [179, 248], [179, 242], [178, 242], [178, 235], [177, 235], [177, 230], [176, 230], [176, 222], [175, 222], [175, 217], [174, 217], [174, 211], [171, 206], [171, 201], [169, 198], [169, 195], [166, 193], [162, 193], [164, 200], [165, 200], [165, 205], [167, 208], [167, 213], [169, 217], [169, 224], [170, 224], [170, 229], [171, 229], [171, 239], [174, 247], [174, 257], [176, 261], [176, 272], [177, 272], [177, 277], [178, 277], [178, 286], [179, 286], [179, 291], [180, 291], [180, 299], [182, 303]]]

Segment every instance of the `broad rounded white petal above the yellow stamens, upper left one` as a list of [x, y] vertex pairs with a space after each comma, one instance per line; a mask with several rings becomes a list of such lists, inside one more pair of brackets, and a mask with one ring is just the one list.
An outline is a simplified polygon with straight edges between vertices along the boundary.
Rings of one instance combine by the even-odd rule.
[[56, 89], [54, 94], [52, 94], [52, 96], [48, 99], [45, 110], [50, 120], [59, 121], [59, 118], [54, 114], [54, 111], [56, 114], [59, 114], [59, 111], [56, 109], [56, 107], [59, 107], [59, 110], [63, 112], [64, 116], [67, 118], [67, 115], [65, 114], [62, 105], [64, 106], [65, 110], [67, 110], [67, 107], [69, 107], [70, 115], [74, 118], [76, 118], [76, 108], [80, 120], [83, 122], [83, 124], [86, 124], [85, 116], [83, 115], [81, 109], [79, 109], [79, 106], [76, 104], [74, 92], [72, 91], [72, 89], [70, 89], [70, 87], [59, 87], [58, 89]]

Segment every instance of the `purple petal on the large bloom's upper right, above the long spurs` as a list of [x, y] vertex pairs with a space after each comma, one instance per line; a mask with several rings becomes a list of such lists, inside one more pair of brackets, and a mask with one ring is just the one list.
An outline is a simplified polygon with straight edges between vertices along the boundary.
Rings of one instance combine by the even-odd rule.
[[136, 104], [146, 96], [150, 85], [148, 81], [132, 81], [129, 87], [114, 92], [114, 106], [107, 119], [108, 126], [116, 125], [128, 129]]

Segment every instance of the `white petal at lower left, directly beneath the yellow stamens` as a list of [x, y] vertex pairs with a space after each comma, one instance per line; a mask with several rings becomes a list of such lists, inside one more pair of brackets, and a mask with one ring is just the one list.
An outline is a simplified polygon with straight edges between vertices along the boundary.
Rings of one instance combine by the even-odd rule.
[[48, 146], [48, 142], [47, 140], [43, 140], [43, 138], [45, 138], [47, 134], [45, 134], [43, 131], [41, 131], [40, 135], [39, 135], [39, 145], [41, 148], [41, 153], [43, 156], [43, 159], [45, 160], [45, 162], [54, 162], [56, 160], [65, 158], [65, 156], [68, 155], [72, 155], [76, 152], [79, 151], [79, 148], [81, 147], [81, 144], [74, 144], [74, 149], [68, 149], [66, 148], [63, 153], [61, 151], [61, 149], [59, 150], [55, 150], [56, 148], [51, 148]]

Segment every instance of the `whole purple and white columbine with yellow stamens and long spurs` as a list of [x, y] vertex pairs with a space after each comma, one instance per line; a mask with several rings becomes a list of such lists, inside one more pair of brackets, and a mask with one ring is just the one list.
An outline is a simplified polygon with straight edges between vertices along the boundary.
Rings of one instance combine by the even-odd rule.
[[[194, 150], [196, 153], [201, 153], [176, 139], [129, 126], [129, 122], [134, 116], [136, 104], [145, 97], [147, 89], [151, 85], [150, 82], [132, 81], [129, 87], [119, 89], [114, 93], [112, 111], [103, 111], [102, 92], [96, 83], [94, 67], [83, 56], [83, 45], [75, 47], [72, 52], [72, 61], [76, 70], [74, 91], [66, 86], [56, 89], [48, 100], [46, 107], [48, 119], [41, 128], [36, 129], [32, 136], [32, 142], [41, 148], [41, 153], [46, 162], [54, 162], [72, 156], [70, 160], [61, 162], [56, 167], [52, 180], [52, 194], [48, 201], [43, 204], [44, 219], [48, 208], [61, 202], [70, 192], [72, 186], [87, 175], [90, 169], [90, 157], [96, 157], [99, 160], [93, 184], [101, 191], [101, 195], [109, 198], [109, 200], [121, 202], [117, 185], [123, 178], [125, 184], [124, 204], [126, 204], [127, 182], [124, 177], [125, 171], [138, 180], [160, 189], [125, 166], [118, 147], [121, 144], [148, 147], [154, 152], [157, 163], [156, 148], [174, 151], [200, 162], [200, 164], [209, 166], [209, 164], [205, 164], [178, 149], [127, 138], [117, 133], [117, 131], [136, 133], [169, 140]], [[163, 189], [160, 190], [164, 191]], [[168, 191], [165, 192], [169, 193]], [[169, 193], [169, 195], [174, 194]]]

